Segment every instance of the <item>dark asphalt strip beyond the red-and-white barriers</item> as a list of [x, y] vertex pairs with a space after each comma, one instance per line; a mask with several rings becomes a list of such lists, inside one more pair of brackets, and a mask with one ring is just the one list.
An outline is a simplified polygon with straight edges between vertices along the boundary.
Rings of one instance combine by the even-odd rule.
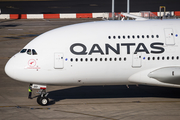
[[[2, 14], [111, 12], [112, 0], [0, 0]], [[180, 11], [179, 0], [130, 0], [130, 11]], [[127, 0], [115, 0], [115, 12], [126, 12]]]

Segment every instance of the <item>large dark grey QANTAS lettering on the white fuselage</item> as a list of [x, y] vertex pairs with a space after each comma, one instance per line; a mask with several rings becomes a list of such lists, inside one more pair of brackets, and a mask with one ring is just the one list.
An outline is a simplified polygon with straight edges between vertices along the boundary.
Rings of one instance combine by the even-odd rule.
[[[115, 46], [112, 46], [110, 44], [105, 44], [105, 50], [100, 47], [99, 44], [93, 44], [92, 47], [90, 47], [89, 52], [87, 51], [86, 45], [82, 43], [74, 43], [70, 46], [70, 51], [75, 55], [92, 55], [94, 53], [99, 53], [101, 55], [108, 55], [109, 51], [114, 52], [115, 54], [120, 54], [120, 47], [125, 47], [127, 50], [127, 54], [131, 54], [130, 51], [133, 47], [135, 47], [134, 54], [137, 54], [138, 52], [145, 52], [146, 54], [161, 54], [165, 51], [163, 48], [164, 43], [161, 42], [154, 42], [150, 44], [150, 50], [147, 49], [146, 45], [144, 43], [117, 43]], [[76, 51], [75, 48], [80, 47], [81, 51]]]

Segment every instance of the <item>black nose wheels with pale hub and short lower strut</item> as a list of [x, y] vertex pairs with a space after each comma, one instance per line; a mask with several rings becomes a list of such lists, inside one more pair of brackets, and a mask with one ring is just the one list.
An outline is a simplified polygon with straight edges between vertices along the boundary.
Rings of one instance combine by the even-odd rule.
[[42, 105], [42, 106], [46, 106], [49, 104], [49, 99], [48, 99], [48, 93], [46, 93], [46, 90], [45, 89], [42, 89], [40, 90], [39, 92], [41, 92], [41, 95], [38, 96], [37, 98], [37, 103], [39, 105]]

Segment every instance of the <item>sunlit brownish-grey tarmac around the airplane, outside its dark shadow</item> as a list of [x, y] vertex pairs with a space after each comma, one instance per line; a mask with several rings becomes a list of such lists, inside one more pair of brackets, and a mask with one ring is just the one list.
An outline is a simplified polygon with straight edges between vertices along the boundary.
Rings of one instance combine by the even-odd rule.
[[179, 120], [180, 89], [154, 86], [47, 86], [50, 105], [28, 99], [28, 83], [4, 72], [8, 59], [45, 31], [101, 19], [0, 20], [0, 120]]

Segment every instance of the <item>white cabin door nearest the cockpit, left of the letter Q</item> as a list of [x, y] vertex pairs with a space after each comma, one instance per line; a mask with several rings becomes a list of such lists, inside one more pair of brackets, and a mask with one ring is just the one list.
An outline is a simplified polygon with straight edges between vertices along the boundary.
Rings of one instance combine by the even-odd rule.
[[63, 53], [54, 53], [54, 68], [55, 69], [63, 69], [64, 68]]

